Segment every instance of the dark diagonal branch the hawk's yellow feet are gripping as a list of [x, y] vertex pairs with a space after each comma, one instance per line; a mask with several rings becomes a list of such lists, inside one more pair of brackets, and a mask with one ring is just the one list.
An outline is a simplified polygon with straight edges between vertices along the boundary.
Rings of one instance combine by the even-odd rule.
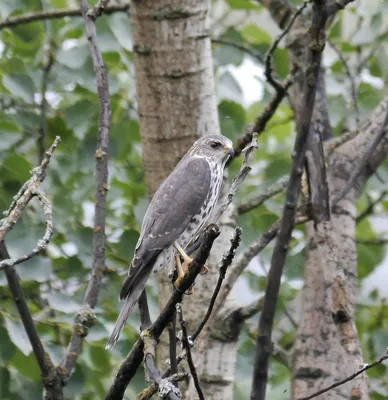
[[[174, 289], [166, 307], [147, 330], [149, 335], [155, 340], [159, 339], [168, 322], [171, 321], [171, 316], [174, 313], [175, 305], [182, 301], [183, 294], [193, 285], [196, 277], [202, 270], [203, 265], [206, 263], [206, 260], [209, 257], [214, 240], [219, 236], [219, 234], [220, 231], [217, 225], [209, 225], [205, 229], [203, 239], [201, 240], [201, 245], [192, 263], [190, 264], [188, 271], [179, 282], [178, 287]], [[143, 358], [143, 349], [143, 340], [139, 338], [132, 346], [130, 353], [122, 363], [114, 382], [112, 383], [112, 386], [105, 397], [105, 400], [117, 400], [123, 398], [126, 387], [135, 376], [136, 371], [141, 364]]]

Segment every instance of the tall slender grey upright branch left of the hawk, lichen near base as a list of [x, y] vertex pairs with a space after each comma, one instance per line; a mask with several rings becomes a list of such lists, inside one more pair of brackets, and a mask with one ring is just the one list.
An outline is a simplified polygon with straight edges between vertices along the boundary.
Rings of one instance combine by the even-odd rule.
[[83, 338], [88, 334], [89, 328], [95, 322], [94, 308], [100, 292], [103, 272], [105, 268], [105, 219], [106, 219], [106, 193], [108, 190], [108, 147], [109, 147], [109, 122], [110, 103], [108, 76], [102, 60], [101, 52], [97, 46], [96, 27], [93, 18], [88, 16], [87, 0], [80, 0], [80, 8], [85, 23], [89, 51], [96, 73], [97, 93], [99, 101], [98, 138], [96, 159], [96, 192], [94, 198], [95, 217], [93, 231], [93, 264], [91, 277], [86, 289], [83, 305], [75, 318], [73, 332], [66, 354], [61, 361], [67, 378], [70, 376], [81, 351]]

